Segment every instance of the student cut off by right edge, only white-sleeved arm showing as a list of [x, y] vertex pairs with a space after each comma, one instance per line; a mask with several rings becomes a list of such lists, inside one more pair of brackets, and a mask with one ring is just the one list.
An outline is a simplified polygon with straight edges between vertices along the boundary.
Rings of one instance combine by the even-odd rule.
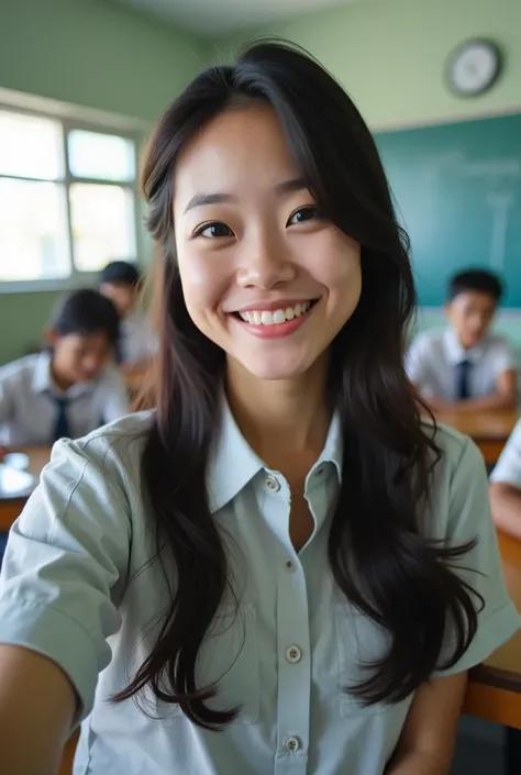
[[490, 476], [490, 501], [498, 528], [521, 540], [521, 420]]

